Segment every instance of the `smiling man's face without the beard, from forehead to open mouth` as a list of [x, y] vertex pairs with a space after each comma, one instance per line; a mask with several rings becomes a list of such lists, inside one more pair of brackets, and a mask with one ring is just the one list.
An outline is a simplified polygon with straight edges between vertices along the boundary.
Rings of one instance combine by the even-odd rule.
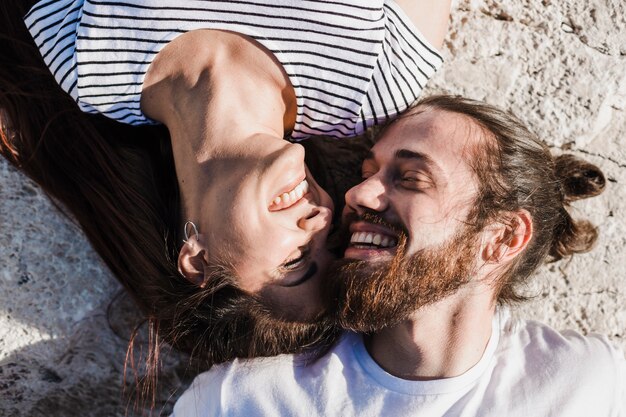
[[345, 258], [390, 259], [400, 230], [410, 256], [465, 224], [477, 193], [471, 150], [482, 134], [458, 114], [417, 111], [387, 129], [363, 162], [363, 182], [346, 193], [344, 221], [374, 213], [386, 224], [350, 221]]

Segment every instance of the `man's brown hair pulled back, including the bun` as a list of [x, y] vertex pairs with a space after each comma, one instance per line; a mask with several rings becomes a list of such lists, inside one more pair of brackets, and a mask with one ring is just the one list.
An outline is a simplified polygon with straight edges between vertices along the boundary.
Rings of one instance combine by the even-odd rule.
[[586, 220], [572, 219], [567, 207], [604, 190], [606, 181], [598, 167], [572, 155], [553, 157], [517, 117], [483, 102], [435, 95], [420, 100], [401, 117], [410, 117], [416, 109], [460, 114], [482, 130], [484, 140], [473, 150], [470, 162], [479, 190], [468, 221], [483, 227], [501, 219], [502, 213], [519, 210], [532, 217], [532, 239], [499, 279], [499, 303], [525, 300], [520, 286], [544, 261], [592, 248], [597, 229]]

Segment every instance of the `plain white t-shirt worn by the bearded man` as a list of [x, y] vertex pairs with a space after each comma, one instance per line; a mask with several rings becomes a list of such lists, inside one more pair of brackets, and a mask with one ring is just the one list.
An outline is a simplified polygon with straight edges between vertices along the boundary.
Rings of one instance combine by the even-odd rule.
[[346, 333], [308, 366], [297, 355], [216, 366], [195, 379], [173, 416], [623, 417], [625, 362], [604, 337], [500, 310], [483, 357], [458, 377], [394, 377]]

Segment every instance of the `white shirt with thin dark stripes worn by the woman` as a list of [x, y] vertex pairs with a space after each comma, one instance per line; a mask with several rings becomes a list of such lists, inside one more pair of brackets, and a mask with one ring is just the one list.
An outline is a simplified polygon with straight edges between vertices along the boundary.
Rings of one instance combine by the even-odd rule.
[[156, 54], [195, 29], [247, 35], [272, 51], [297, 99], [292, 137], [354, 136], [419, 96], [439, 53], [392, 0], [42, 0], [24, 17], [81, 110], [128, 124]]

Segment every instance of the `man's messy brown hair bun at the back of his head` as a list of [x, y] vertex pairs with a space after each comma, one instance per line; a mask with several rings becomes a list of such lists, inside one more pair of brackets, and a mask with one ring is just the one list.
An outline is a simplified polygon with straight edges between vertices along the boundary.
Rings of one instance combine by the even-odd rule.
[[570, 202], [594, 197], [606, 186], [604, 174], [592, 163], [573, 155], [564, 154], [554, 160], [554, 173], [563, 194], [561, 219], [555, 224], [554, 239], [550, 248], [553, 260], [588, 252], [598, 239], [598, 230], [586, 220], [574, 220], [566, 207]]

